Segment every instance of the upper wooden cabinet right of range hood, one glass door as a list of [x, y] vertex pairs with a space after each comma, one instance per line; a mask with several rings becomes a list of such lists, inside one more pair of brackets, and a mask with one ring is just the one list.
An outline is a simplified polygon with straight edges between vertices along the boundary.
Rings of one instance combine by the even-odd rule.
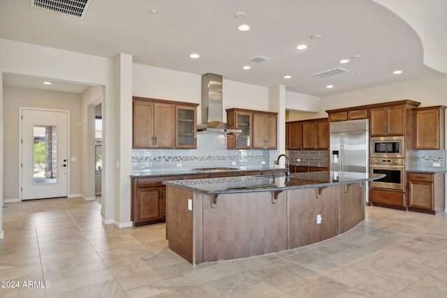
[[228, 149], [277, 149], [277, 114], [255, 110], [228, 109], [227, 122], [242, 129]]

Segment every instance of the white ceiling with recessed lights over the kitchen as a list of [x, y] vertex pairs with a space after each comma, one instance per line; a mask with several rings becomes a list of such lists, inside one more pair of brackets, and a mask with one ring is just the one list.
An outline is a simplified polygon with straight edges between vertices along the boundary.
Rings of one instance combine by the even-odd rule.
[[[423, 2], [431, 12], [427, 27], [446, 46], [447, 1]], [[238, 11], [246, 17], [235, 17]], [[251, 29], [238, 31], [242, 23]], [[314, 34], [322, 38], [311, 39]], [[423, 64], [423, 46], [409, 24], [371, 0], [91, 0], [84, 19], [33, 8], [29, 0], [1, 0], [0, 38], [101, 57], [131, 54], [137, 64], [283, 84], [314, 96], [439, 75]], [[301, 43], [307, 50], [296, 50]], [[447, 56], [447, 47], [441, 51]], [[191, 59], [193, 52], [200, 58]], [[271, 60], [249, 61], [258, 55]], [[339, 64], [354, 55], [361, 57]], [[251, 70], [243, 70], [246, 65]], [[311, 76], [338, 67], [349, 72]], [[397, 69], [403, 73], [393, 75]], [[5, 74], [4, 84], [41, 86], [36, 79]], [[60, 83], [59, 91], [69, 90]], [[74, 87], [82, 92], [86, 86]]]

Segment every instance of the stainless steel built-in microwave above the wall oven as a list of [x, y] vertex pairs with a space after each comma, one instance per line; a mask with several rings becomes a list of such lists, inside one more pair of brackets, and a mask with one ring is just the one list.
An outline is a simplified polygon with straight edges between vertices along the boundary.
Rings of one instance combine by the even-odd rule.
[[369, 157], [404, 158], [405, 142], [403, 136], [369, 138]]

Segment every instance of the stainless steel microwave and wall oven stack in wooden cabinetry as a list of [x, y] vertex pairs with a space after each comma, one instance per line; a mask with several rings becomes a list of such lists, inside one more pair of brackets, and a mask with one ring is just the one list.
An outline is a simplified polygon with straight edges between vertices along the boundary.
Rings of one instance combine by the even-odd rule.
[[369, 139], [369, 172], [386, 174], [369, 183], [372, 188], [405, 189], [404, 137], [371, 137]]

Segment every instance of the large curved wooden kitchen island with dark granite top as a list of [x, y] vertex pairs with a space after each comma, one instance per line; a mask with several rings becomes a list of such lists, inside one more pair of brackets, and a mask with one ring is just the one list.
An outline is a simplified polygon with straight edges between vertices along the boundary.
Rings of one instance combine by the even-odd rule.
[[164, 181], [168, 247], [197, 265], [323, 241], [365, 218], [365, 181], [382, 177], [306, 172]]

